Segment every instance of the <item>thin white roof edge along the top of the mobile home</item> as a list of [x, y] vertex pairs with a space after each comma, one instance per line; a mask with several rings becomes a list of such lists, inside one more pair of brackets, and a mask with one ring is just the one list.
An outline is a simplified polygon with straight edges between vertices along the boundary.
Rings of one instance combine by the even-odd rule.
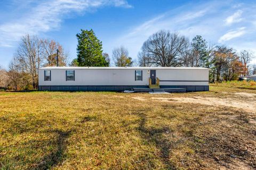
[[209, 70], [209, 69], [206, 69], [206, 68], [203, 68], [203, 67], [70, 67], [70, 66], [49, 66], [49, 67], [41, 67], [39, 69], [42, 69], [42, 70], [45, 70], [45, 69], [131, 69], [131, 70], [137, 70], [137, 69], [141, 69], [141, 70], [152, 70], [152, 69], [155, 69], [155, 70], [158, 70], [158, 69], [180, 69], [180, 70]]

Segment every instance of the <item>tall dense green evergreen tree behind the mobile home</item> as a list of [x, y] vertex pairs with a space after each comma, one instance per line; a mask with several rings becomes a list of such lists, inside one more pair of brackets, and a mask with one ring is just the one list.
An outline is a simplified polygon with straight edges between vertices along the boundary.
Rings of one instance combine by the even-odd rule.
[[102, 56], [102, 42], [92, 29], [81, 29], [81, 33], [77, 33], [76, 37], [78, 66], [109, 66], [108, 61]]

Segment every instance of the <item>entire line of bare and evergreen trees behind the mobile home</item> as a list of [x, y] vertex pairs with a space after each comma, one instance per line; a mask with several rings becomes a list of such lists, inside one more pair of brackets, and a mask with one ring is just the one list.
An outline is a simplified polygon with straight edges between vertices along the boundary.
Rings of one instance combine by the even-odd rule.
[[[68, 62], [68, 53], [54, 40], [25, 35], [9, 63], [8, 69], [0, 67], [0, 88], [31, 90], [38, 88], [38, 69], [42, 66], [109, 66], [109, 54], [104, 53], [102, 42], [94, 31], [77, 33], [77, 57]], [[210, 69], [210, 81], [236, 80], [239, 76], [256, 74], [256, 65], [250, 65], [254, 54], [225, 45], [207, 43], [197, 35], [192, 40], [178, 32], [158, 31], [143, 43], [138, 61], [133, 60], [128, 50], [116, 47], [112, 52], [115, 66], [163, 66], [205, 67]]]

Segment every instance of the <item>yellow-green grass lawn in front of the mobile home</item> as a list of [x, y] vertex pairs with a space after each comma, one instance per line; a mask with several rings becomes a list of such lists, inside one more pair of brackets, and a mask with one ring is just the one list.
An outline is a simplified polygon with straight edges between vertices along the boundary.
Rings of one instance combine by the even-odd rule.
[[0, 169], [253, 169], [256, 113], [185, 99], [254, 94], [0, 92]]

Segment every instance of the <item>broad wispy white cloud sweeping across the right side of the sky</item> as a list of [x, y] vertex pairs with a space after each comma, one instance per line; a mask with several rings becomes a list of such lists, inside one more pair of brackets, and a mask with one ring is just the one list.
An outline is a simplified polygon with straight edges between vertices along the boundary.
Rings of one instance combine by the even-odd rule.
[[[187, 4], [171, 11], [158, 14], [141, 24], [131, 27], [122, 36], [111, 39], [107, 48], [123, 45], [129, 49], [132, 57], [136, 57], [143, 42], [159, 30], [179, 32], [192, 39], [196, 35], [203, 36], [209, 43], [225, 43], [237, 50], [251, 49], [256, 51], [255, 4], [230, 2], [207, 2]], [[231, 14], [231, 15], [230, 15]], [[222, 24], [225, 21], [225, 24]], [[237, 23], [234, 29], [231, 25]], [[239, 39], [238, 39], [239, 37]], [[242, 43], [244, 42], [244, 43]], [[246, 43], [245, 43], [246, 42]], [[249, 46], [252, 44], [251, 46]], [[238, 48], [239, 47], [239, 48]], [[108, 50], [111, 53], [111, 50]]]

